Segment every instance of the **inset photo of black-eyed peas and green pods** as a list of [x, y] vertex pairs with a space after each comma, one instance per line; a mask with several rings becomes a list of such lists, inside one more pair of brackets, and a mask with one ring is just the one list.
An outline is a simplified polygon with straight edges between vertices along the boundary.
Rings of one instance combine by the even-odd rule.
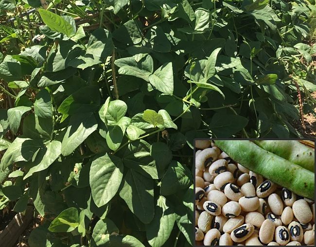
[[315, 141], [195, 139], [195, 246], [315, 244]]

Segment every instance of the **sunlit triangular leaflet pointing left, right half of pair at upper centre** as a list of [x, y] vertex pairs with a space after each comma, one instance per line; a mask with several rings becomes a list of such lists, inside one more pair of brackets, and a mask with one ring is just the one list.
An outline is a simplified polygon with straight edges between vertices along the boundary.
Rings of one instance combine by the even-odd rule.
[[174, 92], [172, 63], [165, 63], [160, 66], [154, 74], [149, 76], [149, 82], [160, 92], [172, 95]]

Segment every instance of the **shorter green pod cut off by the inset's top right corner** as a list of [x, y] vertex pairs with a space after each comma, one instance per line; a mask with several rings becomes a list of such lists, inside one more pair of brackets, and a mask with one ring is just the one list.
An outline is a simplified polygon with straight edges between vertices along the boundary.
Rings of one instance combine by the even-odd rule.
[[298, 141], [254, 140], [259, 147], [314, 172], [315, 150]]

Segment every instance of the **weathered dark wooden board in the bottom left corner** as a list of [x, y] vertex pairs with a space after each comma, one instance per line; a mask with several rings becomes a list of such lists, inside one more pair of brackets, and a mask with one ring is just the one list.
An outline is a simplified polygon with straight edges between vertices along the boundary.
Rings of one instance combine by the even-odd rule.
[[18, 213], [0, 233], [0, 246], [13, 247], [22, 232], [28, 227], [33, 219], [34, 207], [29, 206], [25, 215]]

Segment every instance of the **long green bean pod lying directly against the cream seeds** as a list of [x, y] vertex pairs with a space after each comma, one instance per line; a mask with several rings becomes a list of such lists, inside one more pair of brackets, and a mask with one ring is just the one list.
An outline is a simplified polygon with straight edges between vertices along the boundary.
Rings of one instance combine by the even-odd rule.
[[216, 140], [230, 158], [294, 193], [314, 200], [315, 174], [247, 140]]

